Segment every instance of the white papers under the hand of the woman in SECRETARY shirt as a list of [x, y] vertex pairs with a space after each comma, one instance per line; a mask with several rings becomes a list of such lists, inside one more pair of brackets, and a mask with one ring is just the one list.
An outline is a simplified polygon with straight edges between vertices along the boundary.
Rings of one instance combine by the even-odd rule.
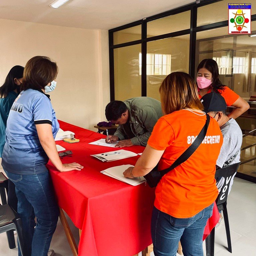
[[123, 175], [123, 172], [126, 169], [128, 169], [129, 167], [133, 167], [133, 165], [124, 164], [124, 165], [114, 166], [114, 167], [110, 167], [106, 170], [101, 171], [101, 173], [103, 173], [111, 178], [114, 178], [114, 179], [120, 180], [122, 182], [125, 182], [127, 184], [130, 184], [132, 186], [137, 186], [146, 181], [144, 179], [144, 177], [137, 177], [134, 179], [125, 178]]

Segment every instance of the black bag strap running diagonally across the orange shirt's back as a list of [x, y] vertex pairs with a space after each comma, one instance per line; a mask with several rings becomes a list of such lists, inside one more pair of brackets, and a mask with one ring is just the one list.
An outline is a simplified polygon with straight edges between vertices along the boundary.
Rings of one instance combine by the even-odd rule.
[[189, 159], [189, 157], [197, 150], [197, 148], [201, 145], [203, 142], [205, 135], [207, 133], [207, 129], [210, 123], [210, 116], [206, 114], [206, 122], [196, 139], [193, 141], [193, 143], [183, 152], [182, 155], [180, 155], [176, 161], [167, 169], [164, 169], [160, 171], [162, 177], [168, 173], [170, 170], [176, 168], [178, 165], [182, 164], [186, 160]]

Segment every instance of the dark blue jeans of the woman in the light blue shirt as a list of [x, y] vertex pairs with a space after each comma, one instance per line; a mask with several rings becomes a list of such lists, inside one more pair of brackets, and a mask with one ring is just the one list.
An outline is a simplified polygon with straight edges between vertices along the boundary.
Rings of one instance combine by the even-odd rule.
[[59, 217], [49, 172], [31, 175], [6, 172], [6, 175], [15, 184], [27, 255], [47, 256]]

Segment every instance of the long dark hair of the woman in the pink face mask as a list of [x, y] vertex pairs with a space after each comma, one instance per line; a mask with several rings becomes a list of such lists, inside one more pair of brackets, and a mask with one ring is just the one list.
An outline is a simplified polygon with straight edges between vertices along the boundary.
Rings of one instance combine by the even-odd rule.
[[225, 88], [225, 85], [223, 85], [220, 81], [220, 74], [217, 62], [213, 59], [204, 59], [199, 63], [197, 67], [197, 72], [201, 68], [206, 68], [212, 73], [212, 90], [220, 94], [218, 90], [223, 90]]

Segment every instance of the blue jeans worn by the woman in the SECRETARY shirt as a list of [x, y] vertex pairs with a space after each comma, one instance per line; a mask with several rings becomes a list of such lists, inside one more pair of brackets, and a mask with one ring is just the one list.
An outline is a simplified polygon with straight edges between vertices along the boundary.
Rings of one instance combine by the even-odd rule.
[[176, 256], [181, 242], [184, 256], [203, 256], [203, 233], [213, 204], [191, 218], [174, 218], [153, 208], [151, 236], [155, 256]]

